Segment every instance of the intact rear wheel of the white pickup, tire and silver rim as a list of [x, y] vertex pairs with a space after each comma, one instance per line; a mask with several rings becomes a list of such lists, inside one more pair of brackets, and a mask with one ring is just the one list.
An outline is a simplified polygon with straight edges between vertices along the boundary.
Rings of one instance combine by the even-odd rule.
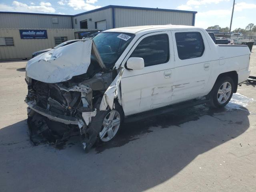
[[222, 77], [216, 81], [210, 94], [210, 104], [214, 108], [226, 106], [234, 92], [234, 81], [230, 77]]

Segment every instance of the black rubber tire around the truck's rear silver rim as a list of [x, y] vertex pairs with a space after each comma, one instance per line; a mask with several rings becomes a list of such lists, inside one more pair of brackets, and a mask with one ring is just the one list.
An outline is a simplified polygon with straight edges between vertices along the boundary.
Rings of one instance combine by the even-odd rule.
[[[228, 99], [225, 101], [225, 99], [222, 100], [222, 103], [219, 102], [218, 98], [220, 98], [220, 94], [218, 94], [219, 89], [222, 87], [222, 84], [225, 82], [228, 82], [231, 85], [231, 93]], [[232, 98], [234, 92], [234, 81], [229, 76], [221, 77], [216, 80], [212, 91], [210, 93], [210, 106], [213, 108], [222, 108], [228, 104], [230, 99]]]

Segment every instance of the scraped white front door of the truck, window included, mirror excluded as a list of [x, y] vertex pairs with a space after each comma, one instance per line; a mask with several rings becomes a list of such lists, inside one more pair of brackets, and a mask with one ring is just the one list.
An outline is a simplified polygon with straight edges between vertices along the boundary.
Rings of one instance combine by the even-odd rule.
[[122, 105], [125, 115], [166, 106], [172, 98], [174, 69], [171, 32], [155, 32], [142, 36], [124, 59], [144, 59], [141, 70], [124, 70], [121, 79]]

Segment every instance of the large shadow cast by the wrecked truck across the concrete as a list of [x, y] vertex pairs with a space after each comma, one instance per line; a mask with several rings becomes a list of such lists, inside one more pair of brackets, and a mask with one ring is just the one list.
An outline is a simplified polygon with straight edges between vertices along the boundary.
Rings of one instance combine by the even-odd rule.
[[11, 168], [3, 165], [3, 172], [13, 174], [4, 174], [0, 185], [3, 182], [6, 191], [15, 191], [22, 178], [29, 178], [30, 184], [20, 190], [49, 191], [54, 188], [52, 182], [59, 182], [59, 191], [70, 186], [76, 191], [147, 190], [172, 178], [198, 155], [240, 136], [250, 125], [249, 114], [243, 107], [211, 110], [200, 105], [124, 124], [112, 142], [100, 144], [88, 154], [75, 137], [65, 150], [34, 147], [27, 141], [26, 122], [21, 121], [0, 129], [0, 163], [14, 161]]

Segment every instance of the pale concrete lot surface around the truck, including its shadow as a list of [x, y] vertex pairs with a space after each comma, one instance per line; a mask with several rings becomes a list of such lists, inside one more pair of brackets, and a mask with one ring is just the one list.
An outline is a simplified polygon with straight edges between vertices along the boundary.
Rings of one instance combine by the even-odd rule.
[[[124, 125], [85, 154], [33, 146], [26, 124], [26, 61], [0, 63], [0, 191], [256, 191], [256, 89], [242, 84], [223, 110], [204, 105]], [[256, 47], [250, 60], [256, 76]]]

